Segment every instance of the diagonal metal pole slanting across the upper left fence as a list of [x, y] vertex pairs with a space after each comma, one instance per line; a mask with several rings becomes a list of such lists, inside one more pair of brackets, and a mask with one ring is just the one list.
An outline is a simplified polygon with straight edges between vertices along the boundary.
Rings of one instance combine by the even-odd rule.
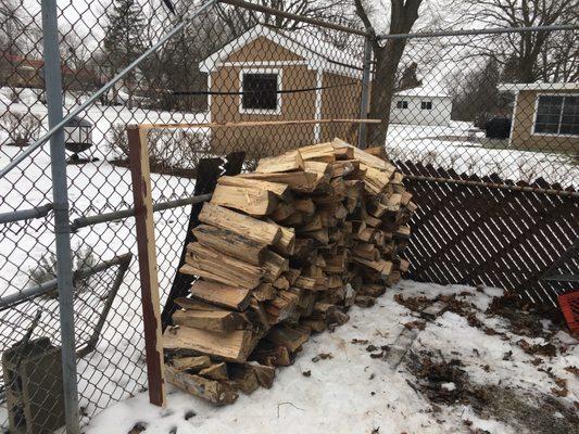
[[[27, 156], [32, 155], [33, 152], [35, 152], [38, 148], [40, 148], [42, 144], [45, 144], [50, 138], [52, 138], [56, 131], [62, 130], [62, 128], [71, 122], [73, 117], [80, 114], [80, 112], [84, 112], [87, 110], [95, 101], [99, 99], [100, 95], [102, 95], [104, 92], [109, 91], [118, 80], [121, 80], [124, 76], [126, 76], [129, 72], [135, 69], [136, 66], [138, 66], [144, 59], [147, 59], [149, 55], [151, 55], [153, 52], [158, 51], [161, 46], [163, 46], [168, 39], [171, 39], [176, 33], [178, 33], [181, 28], [184, 28], [187, 24], [189, 24], [196, 16], [200, 15], [202, 12], [207, 10], [210, 7], [213, 5], [217, 0], [210, 0], [205, 4], [203, 4], [201, 8], [199, 8], [194, 13], [192, 13], [190, 16], [184, 18], [173, 30], [165, 34], [161, 39], [159, 39], [155, 43], [153, 43], [147, 51], [144, 51], [141, 55], [139, 55], [137, 59], [135, 59], [134, 62], [131, 62], [127, 67], [125, 67], [123, 71], [121, 71], [111, 81], [109, 81], [106, 85], [104, 85], [102, 88], [100, 88], [98, 91], [92, 93], [88, 100], [86, 100], [83, 104], [77, 105], [76, 108], [73, 108], [64, 119], [60, 119], [54, 125], [49, 125], [48, 132], [42, 136], [40, 139], [35, 141], [33, 144], [28, 145], [25, 151], [21, 152], [17, 156], [15, 156], [7, 167], [0, 169], [0, 179], [5, 177], [14, 167], [16, 167], [21, 162], [23, 162]], [[60, 75], [60, 71], [59, 71]]]

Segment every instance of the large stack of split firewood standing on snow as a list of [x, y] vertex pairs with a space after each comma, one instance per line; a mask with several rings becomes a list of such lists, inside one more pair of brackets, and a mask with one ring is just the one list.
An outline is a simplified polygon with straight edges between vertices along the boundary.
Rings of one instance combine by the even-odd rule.
[[336, 139], [222, 177], [180, 272], [199, 277], [163, 339], [169, 383], [210, 401], [270, 387], [312, 332], [398, 281], [416, 208], [380, 155]]

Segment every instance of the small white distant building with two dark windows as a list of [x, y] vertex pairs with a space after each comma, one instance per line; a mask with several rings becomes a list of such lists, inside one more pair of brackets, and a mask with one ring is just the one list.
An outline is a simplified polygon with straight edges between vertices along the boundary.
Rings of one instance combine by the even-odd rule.
[[390, 122], [393, 124], [449, 126], [452, 98], [442, 92], [414, 88], [392, 98]]

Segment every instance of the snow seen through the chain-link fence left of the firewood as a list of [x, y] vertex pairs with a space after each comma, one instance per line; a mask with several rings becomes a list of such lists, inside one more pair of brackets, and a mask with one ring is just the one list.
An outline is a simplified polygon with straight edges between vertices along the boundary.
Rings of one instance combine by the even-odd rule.
[[[17, 102], [13, 102], [5, 92], [0, 92], [0, 113], [7, 107], [11, 112], [27, 113], [28, 110], [39, 118], [45, 118], [46, 106], [38, 95], [24, 89]], [[84, 97], [80, 97], [84, 98]], [[2, 104], [5, 103], [7, 107]], [[74, 98], [67, 98], [66, 107], [75, 104]], [[99, 161], [68, 165], [68, 197], [71, 202], [71, 219], [81, 216], [93, 216], [133, 206], [130, 173], [128, 168], [118, 167], [108, 159], [116, 155], [111, 150], [111, 130], [114, 125], [126, 123], [194, 123], [203, 119], [203, 115], [128, 110], [126, 107], [100, 105], [93, 106], [86, 114], [93, 124], [95, 146], [89, 154]], [[46, 129], [46, 119], [45, 125]], [[8, 135], [0, 129], [0, 167], [5, 167], [21, 150], [7, 146]], [[0, 180], [0, 213], [25, 209], [52, 202], [50, 155], [48, 144], [35, 152], [22, 166], [16, 167]], [[153, 200], [168, 201], [193, 193], [194, 180], [168, 175], [152, 174]], [[158, 261], [160, 267], [160, 286], [166, 294], [175, 276], [180, 255], [184, 230], [189, 221], [190, 207], [155, 213], [155, 235], [158, 243]], [[0, 243], [0, 297], [22, 291], [33, 283], [29, 270], [38, 269], [39, 260], [49, 257], [55, 250], [52, 215], [46, 219], [5, 225]], [[72, 237], [74, 251], [92, 248], [98, 263], [111, 259], [128, 252], [137, 254], [134, 219], [124, 219], [83, 228]], [[110, 276], [109, 276], [110, 278]], [[112, 403], [124, 399], [139, 391], [146, 382], [143, 366], [143, 340], [140, 317], [140, 298], [138, 284], [138, 264], [133, 259], [118, 290], [112, 310], [103, 328], [97, 350], [79, 360], [80, 406], [87, 414], [102, 410]], [[111, 280], [100, 284], [109, 285]], [[104, 290], [98, 288], [88, 303], [91, 316], [77, 318], [77, 341], [81, 342], [89, 323], [91, 331], [102, 309], [99, 297]], [[88, 297], [88, 295], [84, 296]], [[79, 302], [79, 301], [77, 301]], [[60, 342], [58, 333], [58, 304], [54, 301], [41, 301], [46, 309], [35, 331], [35, 336], [46, 334], [52, 343]], [[75, 302], [75, 309], [76, 309]], [[28, 308], [27, 308], [28, 307]], [[1, 349], [10, 347], [25, 333], [32, 322], [38, 305], [34, 303], [21, 305], [14, 311], [4, 311], [0, 318]], [[21, 314], [18, 314], [21, 312]], [[18, 314], [18, 315], [16, 315]], [[81, 317], [77, 310], [77, 316]], [[5, 409], [0, 409], [0, 429], [7, 427]]]

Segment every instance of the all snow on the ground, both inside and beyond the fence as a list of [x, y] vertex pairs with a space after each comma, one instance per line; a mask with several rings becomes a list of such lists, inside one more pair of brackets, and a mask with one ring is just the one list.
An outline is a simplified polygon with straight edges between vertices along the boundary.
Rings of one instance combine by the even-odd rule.
[[[41, 118], [46, 117], [46, 106], [32, 90], [22, 90], [16, 102], [13, 102], [5, 89], [0, 90], [0, 113], [5, 111], [5, 107], [2, 106], [4, 104], [16, 113], [26, 113], [29, 110]], [[78, 98], [81, 100], [85, 97], [78, 95]], [[71, 95], [66, 98], [66, 108], [71, 108], [75, 103], [76, 98]], [[193, 123], [204, 120], [205, 114], [160, 113], [140, 108], [128, 110], [119, 106], [96, 105], [88, 111], [86, 117], [96, 125], [93, 130], [96, 144], [89, 153], [91, 156], [98, 157], [99, 161], [67, 167], [73, 219], [126, 208], [133, 204], [128, 169], [111, 165], [108, 162], [112, 156], [115, 156], [110, 146], [111, 130], [115, 124]], [[43, 127], [46, 129], [46, 124]], [[467, 126], [455, 125], [451, 129], [444, 130], [395, 126], [391, 131], [397, 131], [397, 128], [400, 140], [389, 141], [389, 143], [398, 143], [397, 145], [401, 149], [407, 150], [418, 148], [428, 150], [430, 149], [428, 146], [431, 146], [432, 150], [440, 151], [443, 145], [442, 150], [445, 152], [452, 150], [451, 154], [454, 155], [454, 152], [462, 152], [462, 148], [453, 148], [454, 142], [443, 142], [431, 138], [437, 135], [453, 135], [456, 133], [456, 129], [466, 129]], [[0, 167], [4, 167], [21, 152], [17, 148], [4, 146], [5, 142], [7, 133], [0, 130]], [[502, 158], [506, 152], [479, 149], [473, 151], [473, 148], [468, 148], [467, 151], [493, 155], [492, 158]], [[432, 154], [425, 152], [425, 155], [432, 157]], [[533, 153], [533, 155], [540, 156], [541, 154]], [[483, 158], [479, 158], [479, 161], [483, 161]], [[577, 170], [576, 166], [567, 171], [572, 174], [572, 170]], [[193, 180], [159, 174], [152, 175], [152, 183], [155, 201], [190, 195], [194, 188]], [[0, 180], [0, 213], [39, 206], [51, 201], [48, 146], [36, 152], [22, 167], [16, 168], [5, 179]], [[155, 213], [160, 286], [164, 293], [171, 288], [175, 273], [176, 261], [180, 254], [182, 230], [187, 225], [188, 215], [188, 207]], [[49, 216], [46, 220], [5, 226], [2, 243], [0, 243], [0, 257], [7, 258], [1, 268], [0, 296], [27, 288], [29, 285], [28, 270], [37, 267], [40, 258], [54, 251], [54, 235], [51, 225], [51, 216]], [[93, 248], [95, 256], [99, 261], [127, 252], [136, 253], [134, 220], [118, 220], [80, 229], [73, 235], [72, 243], [74, 250]], [[137, 394], [144, 384], [143, 342], [140, 330], [137, 277], [138, 265], [134, 260], [115, 298], [113, 310], [103, 329], [102, 340], [97, 352], [79, 361], [80, 405], [89, 417], [117, 400]], [[229, 432], [230, 426], [242, 427], [248, 432], [252, 430], [254, 432], [268, 432], [282, 430], [284, 426], [287, 426], [288, 421], [292, 421], [297, 427], [302, 427], [306, 432], [312, 432], [311, 426], [314, 426], [314, 432], [322, 431], [322, 426], [337, 432], [369, 432], [373, 427], [381, 426], [381, 433], [389, 432], [389, 430], [391, 432], [458, 430], [462, 426], [460, 414], [463, 410], [466, 414], [470, 414], [474, 420], [473, 411], [468, 408], [451, 408], [448, 410], [449, 414], [444, 414], [443, 418], [440, 414], [432, 414], [427, 400], [417, 396], [406, 383], [407, 376], [405, 374], [385, 370], [383, 363], [380, 360], [369, 358], [364, 347], [351, 344], [351, 340], [354, 337], [373, 340], [378, 346], [393, 341], [401, 329], [401, 322], [412, 318], [407, 309], [392, 303], [391, 299], [393, 294], [401, 291], [404, 285], [406, 286], [406, 294], [419, 289], [429, 293], [456, 291], [455, 288], [442, 289], [433, 285], [423, 288], [405, 282], [397, 286], [395, 291], [389, 292], [380, 301], [380, 306], [368, 310], [354, 308], [351, 311], [352, 320], [347, 326], [333, 334], [315, 336], [306, 345], [303, 355], [293, 367], [280, 370], [278, 381], [272, 391], [259, 391], [251, 397], [241, 397], [236, 406], [216, 410], [196, 398], [175, 391], [171, 396], [169, 409], [163, 412], [167, 416], [160, 417], [161, 413], [158, 409], [150, 408], [144, 404], [146, 396], [137, 394], [134, 399], [106, 410], [103, 416], [91, 421], [88, 427], [93, 433], [106, 432], [106, 421], [113, 414], [113, 419], [118, 418], [115, 421], [113, 432], [127, 432], [128, 429], [125, 430], [125, 427], [130, 427], [129, 425], [138, 420], [148, 420], [151, 432], [154, 432], [152, 430], [155, 424], [160, 426], [159, 430], [161, 431], [159, 432], [167, 432], [173, 424], [182, 427], [182, 430], [190, 429], [190, 426], [203, 427], [207, 432]], [[479, 303], [488, 303], [488, 299], [480, 294], [477, 294], [476, 299]], [[55, 303], [52, 303], [51, 306], [54, 309]], [[42, 321], [45, 318], [46, 316]], [[18, 333], [26, 330], [29, 320], [21, 319], [18, 324], [4, 322], [3, 327], [0, 328], [2, 345], [10, 345], [11, 342], [14, 342], [18, 336], [16, 330]], [[40, 332], [50, 330], [54, 342], [58, 343], [58, 316], [52, 314], [50, 320], [53, 321], [54, 326], [41, 324], [38, 330]], [[481, 379], [490, 379], [494, 375], [495, 380], [501, 379], [501, 381], [512, 381], [518, 378], [521, 378], [520, 381], [529, 381], [528, 379], [541, 378], [540, 384], [533, 384], [532, 387], [540, 386], [545, 390], [549, 380], [544, 379], [544, 374], [538, 374], [534, 370], [531, 375], [531, 372], [524, 370], [517, 376], [514, 375], [514, 372], [519, 372], [519, 367], [495, 359], [504, 349], [503, 347], [509, 345], [508, 343], [505, 344], [496, 336], [481, 335], [479, 330], [465, 327], [464, 319], [452, 312], [445, 314], [437, 323], [440, 326], [436, 328], [432, 324], [427, 326], [417, 344], [423, 342], [421, 336], [429, 336], [431, 333], [432, 336], [429, 337], [429, 342], [432, 345], [440, 345], [446, 350], [449, 343], [445, 342], [445, 339], [449, 337], [452, 345], [460, 347], [466, 354], [467, 350], [471, 350], [471, 347], [462, 348], [461, 345], [468, 346], [470, 342], [478, 342], [481, 348], [486, 348], [486, 353], [481, 357], [484, 357], [487, 365], [496, 366], [496, 370], [491, 375], [486, 371], [481, 372], [475, 368], [469, 368], [471, 370], [469, 374], [474, 379], [481, 381]], [[465, 342], [455, 342], [453, 339], [457, 329], [464, 334]], [[376, 334], [376, 330], [379, 330], [383, 337]], [[438, 337], [435, 339], [435, 335]], [[325, 352], [331, 352], [333, 359], [322, 360], [317, 363], [311, 361], [315, 355]], [[517, 352], [514, 350], [514, 354], [517, 356]], [[567, 359], [561, 361], [561, 366], [565, 363], [579, 365], [576, 360], [576, 350], [566, 357]], [[557, 366], [558, 371], [561, 371], [561, 366]], [[301, 375], [301, 371], [306, 370], [312, 370], [311, 378]], [[375, 374], [375, 379], [369, 381], [368, 378], [372, 373]], [[521, 376], [523, 374], [525, 376]], [[565, 375], [565, 372], [562, 372], [561, 375]], [[448, 387], [452, 386], [449, 385]], [[372, 392], [375, 392], [374, 396]], [[569, 394], [577, 397], [578, 391], [575, 383]], [[193, 408], [198, 416], [185, 422], [182, 412], [186, 408]], [[240, 413], [241, 408], [243, 408], [242, 413]], [[130, 412], [129, 416], [126, 413], [127, 410]], [[448, 422], [440, 425], [437, 422], [439, 419], [444, 419]], [[5, 413], [0, 410], [0, 426], [4, 422]], [[117, 422], [125, 431], [117, 430]], [[492, 426], [500, 426], [493, 425], [489, 421], [477, 423], [480, 423], [481, 426], [488, 426], [489, 430]], [[503, 431], [498, 429], [496, 432]]]

